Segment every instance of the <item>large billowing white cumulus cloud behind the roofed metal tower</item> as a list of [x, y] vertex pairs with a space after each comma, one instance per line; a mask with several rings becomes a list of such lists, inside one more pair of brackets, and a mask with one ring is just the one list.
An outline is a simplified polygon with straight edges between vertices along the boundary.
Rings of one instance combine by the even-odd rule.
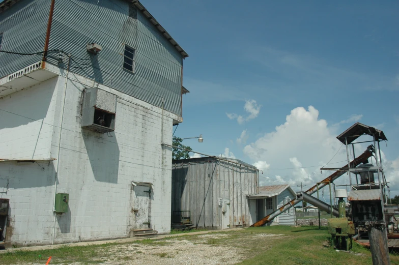
[[[361, 117], [361, 115], [352, 115], [339, 124], [356, 122]], [[287, 115], [286, 122], [247, 144], [243, 152], [253, 161], [258, 161], [254, 165], [260, 165], [259, 161], [267, 161], [267, 166], [264, 166], [267, 170], [264, 170], [263, 175], [260, 173], [261, 185], [286, 183], [298, 191], [300, 187], [297, 185], [302, 182], [306, 185], [304, 188], [306, 190], [334, 172], [321, 171], [320, 168], [327, 163], [329, 164], [326, 167], [340, 167], [347, 164], [345, 145], [335, 138], [347, 129], [345, 127], [337, 124], [329, 126], [325, 120], [320, 119], [319, 111], [313, 106], [307, 109], [297, 107]], [[367, 137], [364, 136], [364, 140], [367, 140]], [[355, 144], [356, 156], [363, 153], [365, 148], [366, 144]], [[350, 152], [352, 160], [351, 149]], [[381, 156], [386, 179], [390, 182], [391, 196], [399, 195], [399, 157], [388, 160], [383, 152]], [[373, 163], [375, 164], [375, 161]], [[342, 175], [335, 184], [349, 184], [348, 175]], [[324, 191], [324, 194], [328, 193], [328, 189]]]

